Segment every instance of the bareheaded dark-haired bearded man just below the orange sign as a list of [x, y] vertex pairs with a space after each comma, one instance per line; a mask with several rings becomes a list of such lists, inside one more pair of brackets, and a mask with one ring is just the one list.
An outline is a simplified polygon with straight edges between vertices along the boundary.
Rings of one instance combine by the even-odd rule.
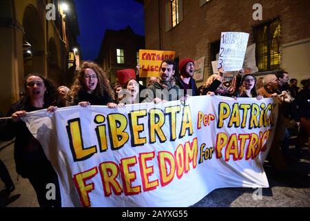
[[160, 102], [177, 100], [180, 87], [176, 84], [174, 73], [176, 63], [172, 59], [165, 59], [159, 68], [159, 77], [156, 82], [147, 87], [148, 96], [143, 102]]

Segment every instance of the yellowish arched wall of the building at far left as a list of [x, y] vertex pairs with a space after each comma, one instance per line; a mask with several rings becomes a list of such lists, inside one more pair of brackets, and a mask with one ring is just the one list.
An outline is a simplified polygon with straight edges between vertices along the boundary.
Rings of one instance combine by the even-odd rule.
[[[23, 78], [28, 73], [50, 77], [56, 86], [65, 83], [68, 48], [59, 35], [54, 21], [45, 17], [43, 0], [2, 0], [0, 2], [0, 111], [6, 113], [10, 104], [23, 91]], [[23, 40], [32, 44], [32, 60], [24, 64]], [[52, 43], [51, 43], [52, 42]], [[52, 52], [52, 53], [50, 53]], [[50, 65], [52, 64], [52, 66]]]

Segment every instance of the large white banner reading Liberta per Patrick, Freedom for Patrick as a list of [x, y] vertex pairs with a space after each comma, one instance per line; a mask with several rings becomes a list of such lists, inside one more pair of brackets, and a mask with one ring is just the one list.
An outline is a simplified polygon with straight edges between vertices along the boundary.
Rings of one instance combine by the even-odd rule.
[[59, 175], [63, 206], [190, 206], [214, 189], [268, 187], [273, 99], [190, 97], [72, 106], [24, 121]]

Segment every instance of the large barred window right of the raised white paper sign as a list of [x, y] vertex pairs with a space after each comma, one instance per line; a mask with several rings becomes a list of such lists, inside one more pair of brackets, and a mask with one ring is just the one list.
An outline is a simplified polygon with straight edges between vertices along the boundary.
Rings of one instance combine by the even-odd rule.
[[254, 28], [256, 63], [259, 71], [280, 68], [280, 20], [263, 23]]

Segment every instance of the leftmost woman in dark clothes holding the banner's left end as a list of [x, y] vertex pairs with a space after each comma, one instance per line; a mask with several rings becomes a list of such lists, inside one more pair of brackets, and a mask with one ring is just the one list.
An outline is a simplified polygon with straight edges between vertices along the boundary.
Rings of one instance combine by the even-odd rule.
[[[61, 106], [52, 81], [38, 74], [30, 74], [24, 81], [25, 97], [19, 99], [8, 112], [12, 120], [1, 125], [1, 140], [14, 142], [14, 160], [19, 175], [28, 178], [37, 193], [39, 205], [42, 207], [61, 206], [59, 182], [54, 168], [43, 152], [38, 140], [28, 130], [21, 117], [28, 112], [38, 111], [49, 106]], [[47, 184], [56, 187], [56, 199], [46, 198]]]

